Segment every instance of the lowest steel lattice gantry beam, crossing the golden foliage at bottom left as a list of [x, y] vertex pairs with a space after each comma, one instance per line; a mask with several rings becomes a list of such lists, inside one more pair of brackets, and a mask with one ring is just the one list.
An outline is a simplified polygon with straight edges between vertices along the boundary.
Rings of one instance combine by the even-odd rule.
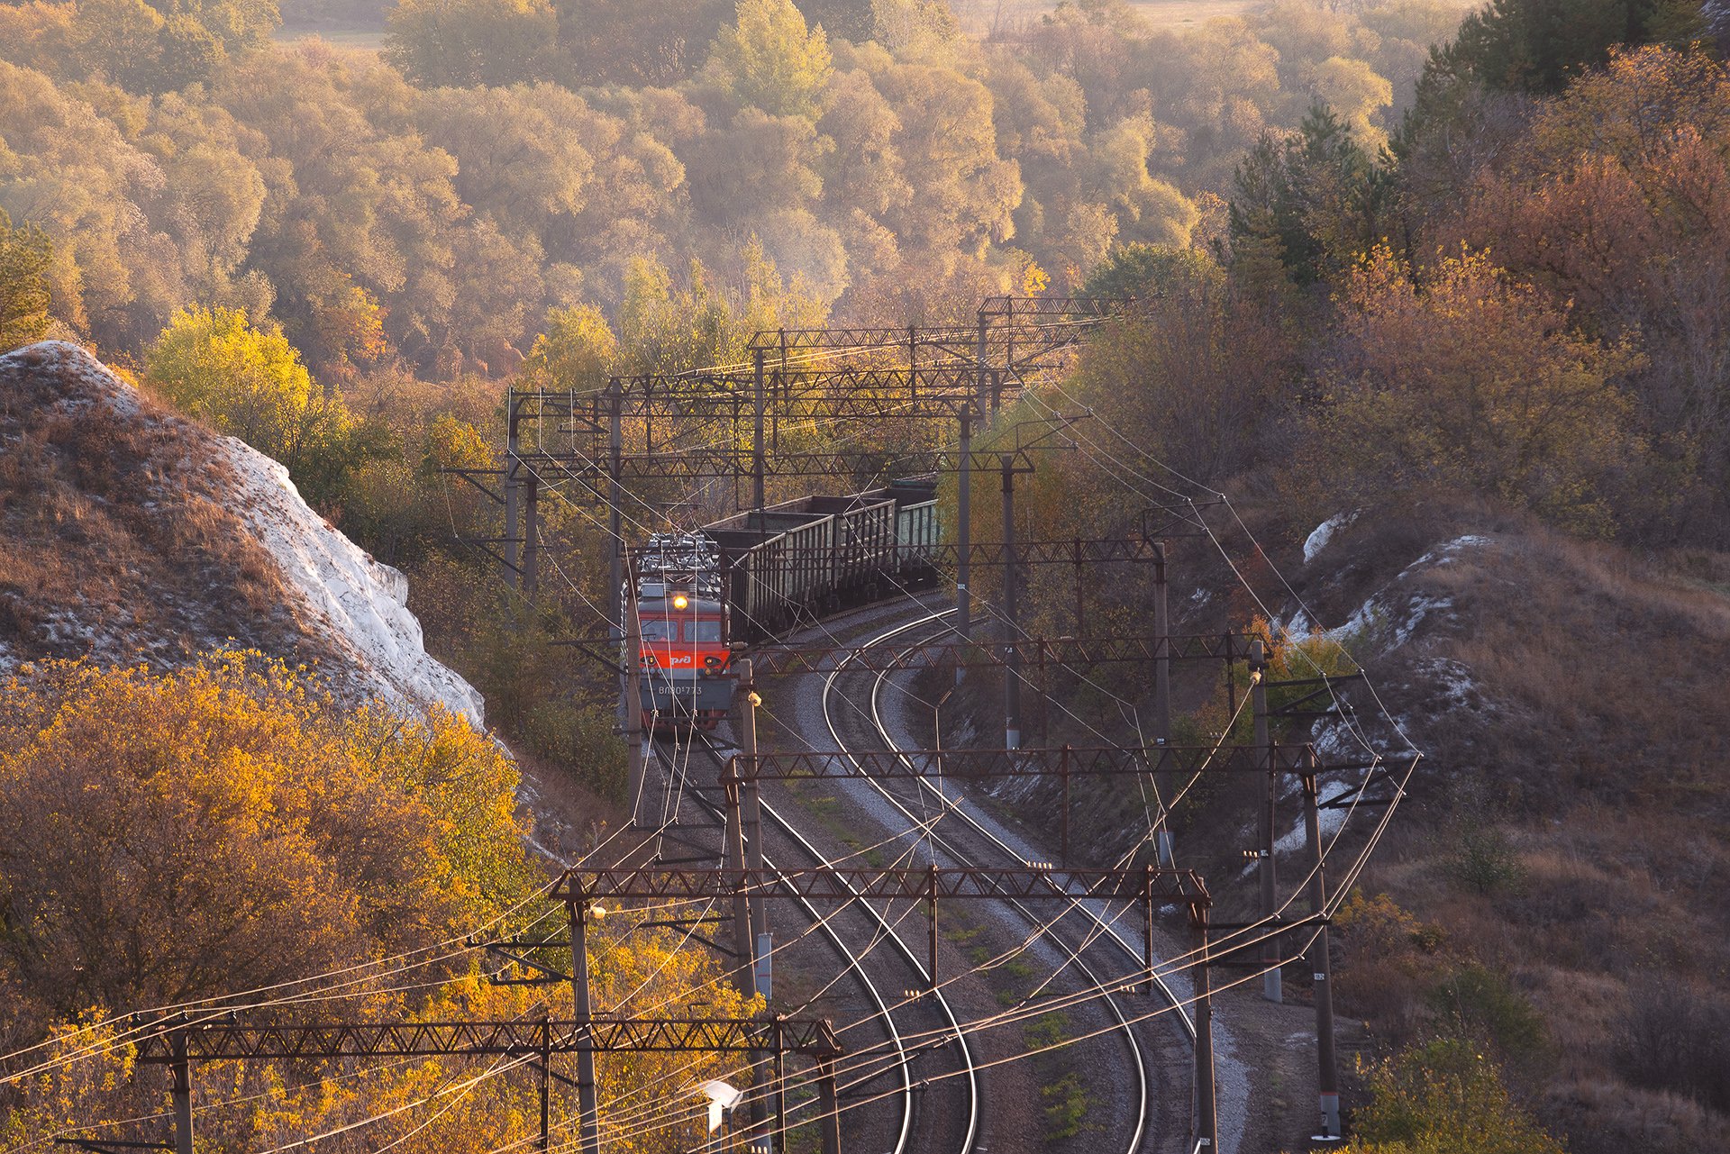
[[[185, 1042], [176, 1057], [173, 1040]], [[310, 1023], [249, 1026], [192, 1023], [164, 1026], [138, 1043], [138, 1061], [536, 1055], [595, 1050], [751, 1052], [775, 1050], [832, 1059], [843, 1054], [822, 1019], [597, 1017], [576, 1021]]]

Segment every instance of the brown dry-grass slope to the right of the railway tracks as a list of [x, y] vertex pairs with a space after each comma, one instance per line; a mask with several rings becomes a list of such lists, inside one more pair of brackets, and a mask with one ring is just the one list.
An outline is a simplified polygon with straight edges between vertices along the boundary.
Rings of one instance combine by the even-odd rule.
[[[1382, 687], [1429, 760], [1362, 889], [1429, 929], [1391, 948], [1348, 924], [1342, 1009], [1387, 1042], [1455, 1017], [1496, 1038], [1576, 1154], [1727, 1149], [1730, 1035], [1666, 1014], [1730, 1023], [1714, 993], [1730, 972], [1730, 559], [1638, 557], [1483, 510], [1426, 529], [1490, 540], [1415, 574], [1446, 623], [1391, 654]], [[1355, 526], [1334, 547], [1353, 561], [1301, 592], [1342, 611], [1413, 559], [1410, 538]], [[1488, 708], [1434, 708], [1436, 661]], [[1652, 1036], [1690, 1057], [1659, 1062]]]

